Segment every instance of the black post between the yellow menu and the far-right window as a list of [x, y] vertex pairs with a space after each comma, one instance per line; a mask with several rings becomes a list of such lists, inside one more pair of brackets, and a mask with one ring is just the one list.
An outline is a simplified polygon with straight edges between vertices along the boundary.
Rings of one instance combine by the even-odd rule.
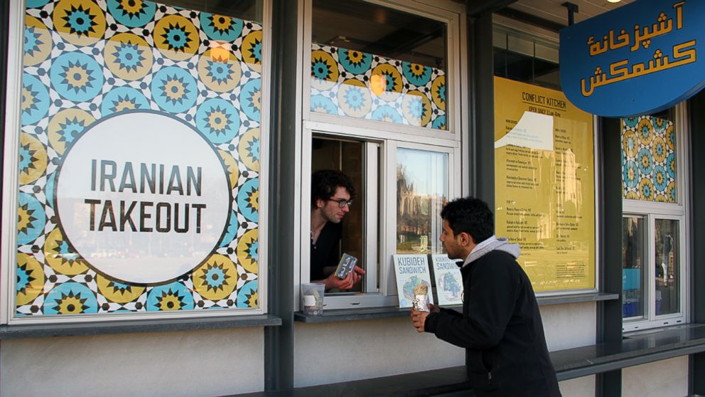
[[[598, 128], [598, 219], [601, 292], [622, 296], [622, 166], [620, 120], [601, 117]], [[597, 306], [597, 343], [622, 341], [622, 300]], [[622, 370], [596, 375], [595, 395], [622, 395]]]

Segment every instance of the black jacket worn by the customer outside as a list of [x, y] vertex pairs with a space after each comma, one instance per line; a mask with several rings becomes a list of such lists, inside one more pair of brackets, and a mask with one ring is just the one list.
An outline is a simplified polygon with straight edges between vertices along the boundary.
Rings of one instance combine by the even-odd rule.
[[515, 258], [493, 250], [461, 273], [463, 314], [431, 313], [424, 330], [465, 348], [475, 394], [561, 396], [534, 290]]

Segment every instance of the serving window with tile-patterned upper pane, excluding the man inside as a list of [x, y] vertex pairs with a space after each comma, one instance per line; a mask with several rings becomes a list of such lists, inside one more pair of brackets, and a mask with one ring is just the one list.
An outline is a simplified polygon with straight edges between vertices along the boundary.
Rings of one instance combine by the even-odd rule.
[[310, 243], [311, 174], [321, 169], [343, 171], [355, 188], [323, 276], [344, 254], [365, 270], [353, 287], [326, 290], [326, 309], [397, 305], [392, 255], [441, 253], [441, 207], [461, 194], [451, 88], [461, 80], [462, 7], [409, 3], [304, 1], [300, 280], [321, 276]]

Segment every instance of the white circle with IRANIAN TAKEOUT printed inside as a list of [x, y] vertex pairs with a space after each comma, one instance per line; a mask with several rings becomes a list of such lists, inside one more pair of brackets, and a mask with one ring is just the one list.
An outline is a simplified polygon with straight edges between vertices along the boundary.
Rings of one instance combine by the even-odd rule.
[[107, 117], [61, 164], [65, 237], [99, 272], [124, 282], [173, 280], [203, 262], [230, 213], [220, 157], [193, 127], [156, 112]]

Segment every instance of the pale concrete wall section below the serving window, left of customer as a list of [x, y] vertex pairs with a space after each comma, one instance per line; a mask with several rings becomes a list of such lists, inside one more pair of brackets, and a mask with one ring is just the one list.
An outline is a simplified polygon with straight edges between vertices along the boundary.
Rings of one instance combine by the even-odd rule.
[[408, 317], [297, 323], [295, 332], [296, 387], [465, 364], [463, 349], [417, 333]]

